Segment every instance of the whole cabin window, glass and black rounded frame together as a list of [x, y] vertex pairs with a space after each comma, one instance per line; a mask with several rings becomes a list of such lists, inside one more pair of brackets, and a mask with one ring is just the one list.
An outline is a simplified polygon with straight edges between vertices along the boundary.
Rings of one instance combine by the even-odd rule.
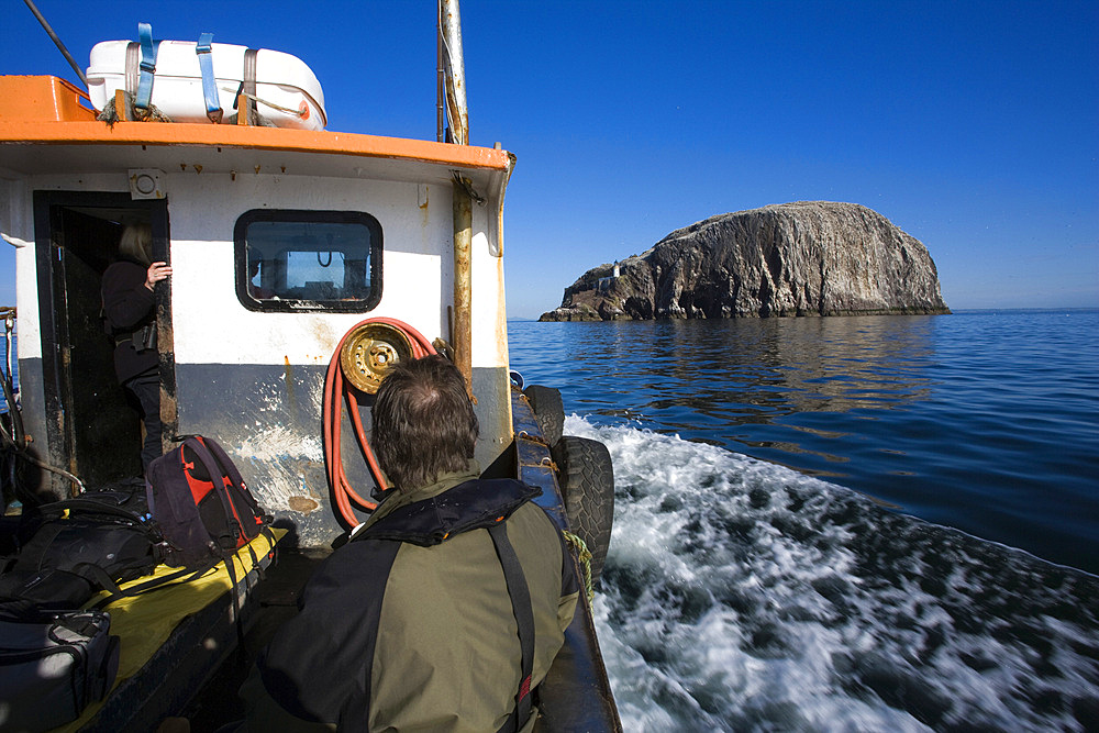
[[236, 295], [257, 311], [368, 311], [381, 300], [381, 225], [357, 211], [255, 209], [236, 220]]

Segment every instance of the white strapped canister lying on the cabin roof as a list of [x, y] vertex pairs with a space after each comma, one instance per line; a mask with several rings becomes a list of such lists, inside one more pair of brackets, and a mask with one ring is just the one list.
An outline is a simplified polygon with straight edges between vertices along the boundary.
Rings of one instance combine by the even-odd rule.
[[[209, 124], [202, 69], [196, 53], [199, 44], [188, 41], [155, 43], [152, 104], [173, 122]], [[245, 63], [248, 48], [226, 43], [208, 45], [217, 99], [227, 120], [236, 113], [237, 93], [247, 90], [242, 88], [242, 82], [247, 76]], [[104, 41], [96, 44], [88, 67], [88, 91], [97, 110], [102, 110], [119, 89], [137, 95], [142, 58], [137, 42]], [[324, 129], [324, 93], [304, 62], [290, 54], [260, 48], [254, 52], [254, 96], [260, 118], [277, 127]]]

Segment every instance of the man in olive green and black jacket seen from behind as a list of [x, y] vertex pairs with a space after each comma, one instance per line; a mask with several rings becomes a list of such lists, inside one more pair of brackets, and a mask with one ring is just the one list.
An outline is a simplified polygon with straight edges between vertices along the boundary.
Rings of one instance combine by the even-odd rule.
[[259, 655], [248, 730], [530, 731], [579, 595], [540, 490], [478, 478], [477, 418], [443, 357], [396, 365], [373, 419], [395, 488]]

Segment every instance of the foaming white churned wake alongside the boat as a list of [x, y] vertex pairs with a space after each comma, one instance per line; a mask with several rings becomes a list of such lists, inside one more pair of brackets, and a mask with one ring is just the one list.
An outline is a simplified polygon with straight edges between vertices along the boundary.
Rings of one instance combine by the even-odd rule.
[[614, 463], [625, 730], [1099, 730], [1099, 578], [711, 445], [565, 432]]

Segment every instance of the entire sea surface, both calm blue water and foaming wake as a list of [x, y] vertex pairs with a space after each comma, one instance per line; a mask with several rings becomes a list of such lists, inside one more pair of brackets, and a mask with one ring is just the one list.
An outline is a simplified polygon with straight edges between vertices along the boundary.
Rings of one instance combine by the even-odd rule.
[[611, 451], [628, 730], [1099, 730], [1099, 312], [509, 337]]

